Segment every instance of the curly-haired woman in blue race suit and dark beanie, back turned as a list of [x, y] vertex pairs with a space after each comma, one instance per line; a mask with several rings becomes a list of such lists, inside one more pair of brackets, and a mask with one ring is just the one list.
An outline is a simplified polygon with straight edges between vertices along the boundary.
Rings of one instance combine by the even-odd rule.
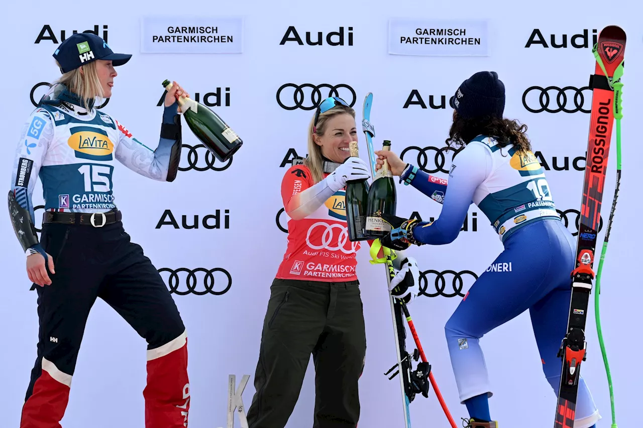
[[[480, 338], [529, 310], [543, 371], [557, 395], [557, 353], [566, 334], [575, 242], [556, 211], [545, 170], [525, 134], [527, 127], [503, 117], [505, 87], [498, 75], [475, 73], [458, 87], [450, 104], [453, 124], [446, 143], [458, 152], [448, 186], [446, 180], [419, 171], [392, 152], [377, 152], [378, 163], [386, 157], [400, 181], [442, 204], [440, 217], [432, 223], [390, 218], [394, 229], [382, 244], [394, 249], [449, 244], [460, 233], [472, 202], [489, 218], [504, 251], [471, 286], [445, 332], [460, 401], [469, 411], [467, 426], [496, 428], [489, 415], [493, 391]], [[514, 380], [520, 388], [520, 373]], [[529, 391], [524, 396], [529, 397]], [[581, 377], [574, 427], [595, 427], [600, 418]]]

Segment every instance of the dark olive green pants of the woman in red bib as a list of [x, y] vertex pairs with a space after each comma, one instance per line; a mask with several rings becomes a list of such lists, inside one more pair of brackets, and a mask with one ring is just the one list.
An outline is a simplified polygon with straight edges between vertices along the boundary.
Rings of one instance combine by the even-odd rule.
[[316, 373], [313, 428], [355, 428], [366, 355], [359, 282], [275, 279], [270, 290], [249, 428], [285, 426], [311, 353]]

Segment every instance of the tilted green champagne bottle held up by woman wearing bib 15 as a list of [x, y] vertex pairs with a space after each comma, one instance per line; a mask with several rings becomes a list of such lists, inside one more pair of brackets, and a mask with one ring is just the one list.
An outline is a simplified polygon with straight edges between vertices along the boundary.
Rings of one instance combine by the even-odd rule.
[[[172, 83], [164, 80], [163, 87], [169, 91]], [[239, 150], [243, 144], [242, 139], [218, 114], [186, 96], [177, 96], [176, 100], [190, 130], [220, 162], [227, 161]]]

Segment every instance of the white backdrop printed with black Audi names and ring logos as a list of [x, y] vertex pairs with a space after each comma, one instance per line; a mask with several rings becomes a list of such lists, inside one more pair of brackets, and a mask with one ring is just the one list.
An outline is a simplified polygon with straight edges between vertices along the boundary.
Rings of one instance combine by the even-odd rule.
[[[75, 2], [74, 2], [75, 3]], [[626, 2], [627, 3], [627, 2]], [[21, 124], [33, 109], [30, 92], [39, 82], [51, 82], [59, 76], [51, 54], [56, 44], [51, 40], [35, 43], [43, 26], [49, 25], [60, 42], [60, 31], [84, 31], [99, 27], [104, 35], [107, 26], [109, 44], [114, 51], [132, 53], [131, 61], [118, 67], [113, 99], [104, 111], [131, 130], [138, 139], [156, 147], [161, 107], [156, 107], [163, 93], [161, 82], [177, 80], [191, 94], [216, 93], [220, 89], [222, 105], [212, 107], [244, 140], [228, 168], [221, 171], [190, 168], [189, 149], [184, 148], [180, 172], [173, 183], [158, 183], [136, 175], [124, 166], [114, 174], [116, 204], [123, 211], [123, 223], [134, 242], [140, 243], [158, 269], [213, 269], [230, 273], [228, 292], [204, 295], [194, 292], [174, 299], [188, 329], [190, 389], [192, 395], [190, 426], [194, 428], [224, 427], [228, 400], [228, 375], [249, 374], [251, 379], [243, 398], [249, 406], [255, 389], [255, 364], [262, 320], [269, 297], [269, 285], [286, 246], [286, 235], [276, 224], [282, 202], [280, 182], [285, 172], [282, 161], [289, 149], [300, 156], [306, 152], [305, 132], [314, 111], [288, 110], [278, 103], [280, 86], [349, 85], [356, 93], [358, 127], [361, 106], [368, 92], [374, 93], [372, 123], [376, 127], [376, 148], [383, 139], [392, 140], [397, 153], [410, 146], [442, 147], [446, 138], [451, 110], [430, 107], [440, 105], [440, 97], [454, 93], [460, 82], [480, 70], [494, 70], [507, 89], [505, 116], [517, 118], [529, 126], [528, 134], [534, 151], [540, 151], [550, 171], [547, 177], [554, 201], [561, 211], [578, 210], [581, 202], [583, 173], [570, 166], [568, 170], [552, 168], [553, 157], [558, 165], [563, 158], [573, 160], [584, 156], [588, 138], [589, 114], [583, 112], [529, 112], [523, 105], [523, 93], [531, 86], [582, 88], [593, 72], [594, 59], [590, 48], [544, 48], [534, 44], [525, 48], [534, 29], [538, 28], [549, 42], [555, 35], [561, 43], [563, 34], [568, 43], [572, 35], [588, 30], [589, 46], [592, 31], [617, 24], [628, 34], [624, 86], [624, 120], [622, 121], [623, 165], [619, 206], [611, 235], [610, 252], [602, 281], [602, 323], [610, 356], [617, 415], [622, 426], [634, 426], [639, 419], [637, 370], [637, 301], [642, 292], [638, 281], [631, 280], [628, 269], [640, 263], [638, 242], [641, 231], [636, 213], [640, 205], [633, 180], [638, 158], [631, 148], [638, 144], [637, 124], [643, 109], [642, 87], [635, 79], [642, 71], [641, 30], [635, 2], [622, 3], [615, 13], [598, 1], [554, 2], [538, 4], [504, 0], [490, 2], [403, 1], [392, 7], [388, 1], [347, 1], [331, 3], [300, 1], [251, 1], [212, 3], [194, 0], [188, 3], [159, 0], [145, 2], [113, 1], [105, 4], [77, 5], [14, 3], [6, 9], [6, 20], [0, 27], [5, 40], [3, 67], [0, 73], [5, 85], [2, 120], [5, 141], [0, 145], [1, 177], [5, 190], [10, 187], [10, 168]], [[611, 6], [610, 6], [611, 7]], [[140, 53], [141, 20], [163, 15], [174, 17], [177, 26], [188, 26], [195, 17], [242, 19], [241, 53]], [[422, 56], [390, 55], [388, 53], [389, 20], [393, 18], [439, 20], [448, 19], [451, 27], [466, 27], [465, 20], [487, 22], [487, 35], [482, 39], [486, 56]], [[457, 23], [464, 22], [462, 26]], [[207, 21], [207, 19], [206, 19]], [[455, 22], [455, 27], [454, 23]], [[344, 28], [344, 45], [300, 46], [295, 42], [280, 45], [289, 26], [294, 26], [305, 41], [306, 31], [327, 35]], [[349, 45], [349, 27], [352, 44]], [[450, 28], [451, 28], [450, 27]], [[409, 33], [412, 35], [412, 33]], [[239, 35], [235, 34], [235, 40]], [[468, 36], [467, 36], [468, 37]], [[334, 37], [334, 40], [337, 40]], [[179, 46], [179, 49], [181, 46]], [[416, 48], [420, 49], [421, 46]], [[453, 48], [453, 46], [448, 47]], [[408, 46], [406, 46], [408, 49]], [[458, 51], [457, 49], [455, 49]], [[34, 92], [36, 100], [45, 87]], [[428, 108], [409, 105], [403, 108], [413, 90], [417, 90]], [[321, 96], [328, 96], [321, 88]], [[352, 101], [350, 91], [340, 87], [340, 96]], [[556, 107], [556, 90], [549, 92], [550, 107]], [[282, 103], [293, 106], [293, 89], [284, 89]], [[311, 89], [304, 89], [304, 102], [311, 105]], [[566, 91], [567, 107], [574, 109], [574, 89]], [[226, 97], [229, 96], [229, 102]], [[590, 91], [584, 91], [584, 108], [589, 108]], [[214, 102], [213, 96], [208, 102]], [[289, 102], [290, 104], [288, 104]], [[538, 107], [538, 91], [525, 98], [530, 108]], [[184, 140], [196, 145], [197, 139], [184, 127]], [[366, 157], [363, 134], [359, 134], [361, 154]], [[610, 156], [604, 218], [611, 206], [615, 177], [615, 139]], [[196, 149], [192, 161], [197, 168], [206, 166], [204, 149]], [[194, 154], [193, 154], [194, 155]], [[409, 150], [404, 158], [417, 165], [417, 152]], [[448, 163], [444, 167], [448, 169]], [[430, 156], [427, 168], [433, 168]], [[571, 165], [571, 164], [570, 164]], [[222, 165], [215, 162], [215, 168]], [[286, 165], [286, 167], [289, 165]], [[583, 168], [584, 163], [580, 163]], [[437, 173], [440, 177], [446, 174]], [[418, 211], [422, 218], [437, 217], [439, 204], [421, 195], [410, 186], [398, 186], [398, 213], [410, 215]], [[34, 193], [36, 205], [42, 203], [40, 184]], [[157, 228], [165, 210], [171, 210], [179, 226], [181, 216], [188, 224], [199, 216], [214, 215], [219, 210], [220, 228], [175, 229]], [[229, 227], [224, 216], [229, 215]], [[502, 244], [484, 215], [475, 206], [469, 210], [468, 230], [453, 244], [445, 247], [425, 246], [412, 250], [423, 270], [444, 272], [470, 270], [481, 274]], [[474, 217], [477, 219], [473, 231]], [[37, 224], [42, 210], [37, 210]], [[37, 312], [36, 294], [24, 271], [24, 255], [14, 236], [8, 216], [0, 225], [0, 238], [5, 243], [3, 271], [5, 284], [0, 300], [0, 324], [5, 325], [0, 352], [0, 413], [6, 426], [17, 427], [21, 406], [36, 355]], [[576, 231], [574, 213], [568, 218], [570, 229]], [[167, 218], [166, 218], [167, 219]], [[638, 222], [636, 221], [638, 220]], [[285, 215], [280, 216], [283, 226]], [[213, 224], [213, 221], [210, 221]], [[604, 229], [601, 233], [601, 238]], [[183, 249], [181, 249], [183, 247]], [[397, 378], [389, 381], [383, 373], [395, 363], [394, 333], [385, 289], [384, 267], [368, 263], [368, 252], [358, 254], [358, 276], [364, 301], [367, 326], [367, 359], [360, 380], [362, 404], [360, 427], [401, 427], [401, 399]], [[163, 272], [164, 278], [168, 273]], [[226, 287], [226, 277], [215, 272], [214, 291]], [[177, 292], [188, 291], [186, 273], [179, 272]], [[197, 272], [195, 291], [204, 291], [203, 273]], [[451, 278], [446, 275], [446, 289], [451, 292]], [[464, 275], [466, 292], [473, 282]], [[435, 294], [435, 275], [428, 276], [428, 293]], [[455, 379], [450, 368], [444, 339], [444, 323], [457, 307], [460, 297], [421, 296], [410, 307], [419, 335], [442, 394], [457, 421], [466, 416], [459, 404]], [[599, 427], [610, 424], [610, 402], [606, 375], [595, 332], [593, 294], [588, 317], [588, 358], [583, 364], [586, 378], [603, 420]], [[410, 335], [409, 335], [410, 336]], [[561, 338], [562, 339], [562, 338]], [[412, 348], [412, 339], [408, 347]], [[620, 350], [619, 350], [620, 346]], [[541, 371], [538, 350], [531, 331], [529, 316], [506, 323], [482, 339], [487, 367], [493, 382], [494, 397], [491, 414], [501, 424], [529, 428], [553, 424], [556, 397]], [[518, 351], [522, 350], [522, 351]], [[634, 361], [633, 361], [634, 360]], [[312, 368], [312, 366], [311, 366]], [[300, 400], [287, 425], [305, 428], [312, 425], [314, 406], [314, 373], [310, 370], [303, 384]], [[138, 337], [103, 301], [96, 301], [87, 323], [84, 342], [78, 357], [69, 406], [63, 420], [65, 428], [142, 427], [145, 386], [145, 341]], [[432, 389], [428, 399], [417, 397], [411, 406], [415, 427], [448, 427], [448, 422], [435, 399]], [[235, 417], [236, 418], [236, 417]], [[461, 422], [461, 421], [460, 421]], [[235, 424], [239, 426], [238, 420]]]

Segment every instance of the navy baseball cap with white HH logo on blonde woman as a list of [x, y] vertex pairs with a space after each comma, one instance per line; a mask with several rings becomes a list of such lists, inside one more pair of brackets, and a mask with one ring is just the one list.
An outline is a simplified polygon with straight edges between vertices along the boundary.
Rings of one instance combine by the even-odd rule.
[[122, 66], [132, 55], [114, 53], [109, 44], [93, 33], [76, 33], [62, 42], [52, 55], [60, 64], [60, 71], [67, 73], [92, 61], [111, 61], [114, 67]]

